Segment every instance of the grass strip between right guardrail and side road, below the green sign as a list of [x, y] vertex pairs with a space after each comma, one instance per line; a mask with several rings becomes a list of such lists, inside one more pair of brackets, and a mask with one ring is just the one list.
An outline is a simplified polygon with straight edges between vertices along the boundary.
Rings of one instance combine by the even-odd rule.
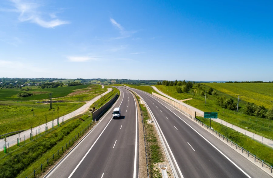
[[[210, 119], [205, 119], [203, 117], [197, 117], [197, 119], [208, 126], [210, 124]], [[248, 150], [252, 154], [269, 163], [270, 165], [273, 164], [272, 148], [262, 145], [261, 143], [249, 138], [248, 136], [245, 136], [244, 134], [241, 134], [233, 129], [230, 129], [229, 127], [221, 125], [220, 123], [211, 121], [211, 127], [214, 128], [214, 130], [216, 130], [217, 132], [220, 132], [228, 139], [242, 146], [244, 149]]]

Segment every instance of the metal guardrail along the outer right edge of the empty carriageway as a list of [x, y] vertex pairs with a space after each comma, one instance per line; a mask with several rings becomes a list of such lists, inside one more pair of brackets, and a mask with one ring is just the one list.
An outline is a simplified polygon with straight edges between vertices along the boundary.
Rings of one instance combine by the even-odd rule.
[[[155, 97], [157, 97], [156, 95], [154, 95]], [[159, 97], [157, 97], [159, 98]], [[162, 100], [161, 98], [159, 98], [160, 100]], [[170, 106], [172, 106], [173, 108], [175, 108], [176, 110], [180, 111], [181, 113], [183, 113], [184, 115], [188, 116], [190, 119], [193, 119], [195, 122], [198, 122], [199, 125], [202, 124], [202, 126], [207, 127], [207, 129], [210, 129], [210, 131], [212, 130], [212, 133], [215, 132], [215, 135], [219, 135], [219, 138], [223, 138], [223, 140], [227, 140], [227, 143], [231, 143], [231, 146], [236, 146], [236, 149], [240, 149], [242, 151], [242, 153], [248, 154], [248, 157], [252, 157], [254, 158], [254, 162], [259, 162], [261, 163], [262, 167], [266, 167], [270, 170], [270, 172], [272, 173], [272, 166], [268, 163], [266, 163], [264, 160], [262, 160], [261, 158], [257, 157], [256, 155], [252, 154], [251, 152], [249, 152], [248, 150], [244, 149], [243, 147], [241, 147], [240, 145], [238, 145], [237, 143], [235, 143], [234, 141], [228, 139], [227, 137], [225, 137], [224, 135], [222, 135], [220, 132], [217, 132], [214, 129], [211, 129], [210, 126], [207, 126], [205, 123], [201, 122], [200, 120], [196, 119], [195, 116], [190, 115], [189, 113], [185, 112], [184, 110], [181, 110], [179, 107], [176, 107], [175, 105], [162, 100], [165, 103], [169, 104]]]

